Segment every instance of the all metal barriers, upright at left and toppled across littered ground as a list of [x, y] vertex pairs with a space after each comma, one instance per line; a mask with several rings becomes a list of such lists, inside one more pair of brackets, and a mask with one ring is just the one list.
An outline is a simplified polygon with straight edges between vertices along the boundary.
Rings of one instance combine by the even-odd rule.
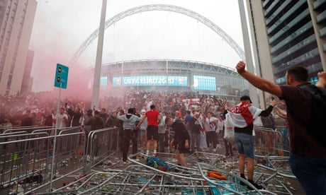
[[[247, 187], [238, 185], [238, 179], [241, 178], [237, 177], [237, 161], [227, 162], [225, 165], [223, 155], [204, 152], [187, 155], [189, 167], [185, 170], [184, 167], [174, 163], [171, 153], [159, 153], [159, 158], [165, 162], [172, 160], [167, 165], [173, 169], [165, 172], [157, 167], [148, 167], [148, 157], [137, 153], [128, 157], [134, 165], [127, 165], [122, 170], [113, 170], [110, 167], [107, 172], [99, 172], [96, 170], [96, 165], [113, 155], [116, 157], [119, 153], [120, 135], [117, 128], [98, 129], [87, 135], [79, 128], [57, 129], [55, 156], [52, 155], [55, 129], [35, 128], [32, 133], [28, 131], [19, 129], [0, 134], [0, 186], [2, 188], [0, 194], [18, 194], [19, 192], [60, 194], [64, 190], [67, 193], [81, 194], [98, 192], [159, 194], [162, 191], [165, 194], [190, 192], [198, 194], [212, 191], [220, 192], [220, 194], [223, 191], [242, 194], [243, 191], [247, 191]], [[293, 178], [291, 172], [287, 170], [288, 156], [279, 153], [279, 150], [284, 151], [283, 134], [279, 130], [264, 128], [256, 128], [255, 131], [256, 147], [259, 149], [257, 156], [266, 161], [258, 167], [271, 172], [271, 174], [255, 172], [255, 178], [268, 187], [268, 190], [275, 189], [276, 194], [291, 194], [288, 185], [280, 179]], [[271, 143], [266, 136], [271, 138]], [[271, 146], [271, 149], [267, 146]], [[136, 156], [138, 159], [135, 158]], [[123, 163], [120, 162], [120, 164]], [[210, 170], [218, 170], [216, 167], [223, 169], [220, 172], [228, 176], [228, 182], [217, 181], [206, 176]], [[54, 189], [49, 191], [52, 168]], [[174, 172], [174, 170], [178, 171]], [[62, 187], [62, 182], [67, 181], [67, 177], [75, 180], [70, 182], [69, 187], [72, 187], [72, 184], [80, 184], [79, 188]], [[94, 181], [99, 182], [94, 183]], [[89, 186], [90, 182], [94, 184]], [[84, 187], [87, 188], [83, 189]], [[252, 191], [252, 194], [259, 193], [274, 194], [270, 191]]]

